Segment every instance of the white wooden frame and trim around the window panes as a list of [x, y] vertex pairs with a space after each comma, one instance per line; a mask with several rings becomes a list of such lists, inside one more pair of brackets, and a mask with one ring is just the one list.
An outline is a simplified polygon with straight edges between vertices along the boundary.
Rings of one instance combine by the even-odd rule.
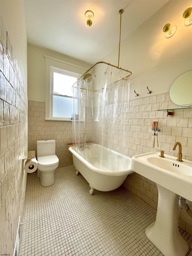
[[[45, 55], [46, 59], [46, 90], [45, 90], [45, 120], [72, 121], [71, 118], [53, 117], [53, 72], [66, 74], [79, 78], [87, 68], [64, 62]], [[57, 94], [58, 96], [58, 94]], [[63, 96], [63, 95], [61, 95]]]

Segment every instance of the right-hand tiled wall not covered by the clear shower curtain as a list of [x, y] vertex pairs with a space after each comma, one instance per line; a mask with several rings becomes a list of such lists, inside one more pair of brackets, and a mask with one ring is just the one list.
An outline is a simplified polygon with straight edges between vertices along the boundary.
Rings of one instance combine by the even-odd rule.
[[[141, 102], [143, 105], [140, 105]], [[149, 107], [150, 103], [152, 108]], [[156, 103], [160, 103], [158, 109], [166, 109], [168, 106], [175, 108], [174, 116], [167, 117], [166, 110], [157, 111]], [[139, 106], [139, 110], [135, 106]], [[129, 121], [126, 125], [125, 140], [127, 144], [123, 146], [122, 140], [116, 140], [114, 149], [130, 157], [157, 150], [164, 150], [165, 154], [177, 157], [178, 149], [174, 151], [172, 148], [174, 143], [179, 141], [182, 144], [183, 159], [192, 161], [192, 109], [178, 108], [180, 106], [171, 101], [169, 93], [129, 101]], [[153, 148], [154, 136], [151, 129], [153, 121], [157, 121], [160, 128], [159, 147], [155, 141], [155, 148]], [[132, 173], [128, 175], [123, 185], [157, 209], [158, 189], [154, 182], [137, 173]], [[191, 209], [188, 209], [187, 213], [179, 209], [179, 227], [192, 235]]]

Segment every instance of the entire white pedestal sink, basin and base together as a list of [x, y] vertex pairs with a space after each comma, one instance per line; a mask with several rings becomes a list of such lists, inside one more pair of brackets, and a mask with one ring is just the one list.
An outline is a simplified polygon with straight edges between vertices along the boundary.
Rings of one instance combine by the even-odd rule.
[[131, 169], [154, 181], [158, 187], [156, 220], [146, 228], [148, 239], [165, 256], [185, 256], [189, 246], [179, 234], [179, 196], [192, 201], [192, 162], [151, 152], [132, 158]]

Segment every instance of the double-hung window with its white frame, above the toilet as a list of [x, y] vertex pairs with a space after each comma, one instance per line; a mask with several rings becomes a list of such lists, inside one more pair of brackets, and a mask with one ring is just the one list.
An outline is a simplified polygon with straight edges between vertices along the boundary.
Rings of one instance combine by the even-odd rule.
[[[72, 120], [71, 86], [86, 68], [46, 57], [45, 120]], [[74, 71], [78, 71], [74, 72]], [[79, 72], [80, 71], [80, 72]]]

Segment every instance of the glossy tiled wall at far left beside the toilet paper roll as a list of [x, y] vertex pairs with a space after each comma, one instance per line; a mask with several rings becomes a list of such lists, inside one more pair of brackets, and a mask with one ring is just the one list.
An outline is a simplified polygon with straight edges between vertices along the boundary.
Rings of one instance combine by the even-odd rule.
[[0, 254], [13, 255], [27, 173], [27, 91], [0, 14]]

